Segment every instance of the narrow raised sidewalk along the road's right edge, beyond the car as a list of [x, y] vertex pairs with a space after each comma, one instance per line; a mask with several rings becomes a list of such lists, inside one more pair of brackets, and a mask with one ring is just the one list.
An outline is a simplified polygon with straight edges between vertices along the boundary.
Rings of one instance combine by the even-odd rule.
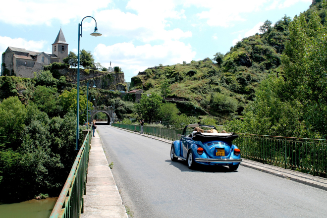
[[[121, 129], [121, 130], [135, 133], [135, 134], [139, 134], [139, 135], [142, 135], [142, 136], [145, 136], [148, 138], [156, 139], [156, 140], [168, 143], [168, 144], [171, 144], [173, 142], [171, 140], [163, 139], [163, 138], [152, 136], [152, 135], [140, 134], [138, 132], [133, 132], [133, 131], [118, 128], [118, 127], [114, 127], [114, 128]], [[310, 186], [313, 186], [316, 188], [327, 190], [327, 179], [323, 178], [323, 177], [313, 176], [308, 173], [297, 172], [294, 170], [284, 169], [282, 167], [273, 166], [273, 165], [269, 165], [269, 164], [263, 164], [263, 163], [259, 163], [259, 162], [255, 162], [255, 161], [246, 160], [246, 159], [243, 159], [242, 162], [240, 163], [240, 165], [250, 167], [253, 169], [257, 169], [262, 172], [267, 172], [267, 173], [270, 173], [272, 175], [276, 175], [279, 177], [287, 178], [287, 179], [290, 179], [290, 180], [293, 180], [296, 182], [300, 182], [300, 183], [303, 183], [306, 185], [310, 185]]]

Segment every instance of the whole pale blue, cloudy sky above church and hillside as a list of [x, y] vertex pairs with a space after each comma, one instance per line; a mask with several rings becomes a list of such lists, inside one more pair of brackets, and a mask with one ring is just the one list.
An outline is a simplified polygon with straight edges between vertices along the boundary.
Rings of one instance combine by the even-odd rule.
[[312, 0], [8, 0], [0, 7], [0, 52], [7, 47], [51, 53], [60, 30], [102, 66], [119, 66], [126, 82], [148, 67], [213, 58], [284, 14], [293, 18]]

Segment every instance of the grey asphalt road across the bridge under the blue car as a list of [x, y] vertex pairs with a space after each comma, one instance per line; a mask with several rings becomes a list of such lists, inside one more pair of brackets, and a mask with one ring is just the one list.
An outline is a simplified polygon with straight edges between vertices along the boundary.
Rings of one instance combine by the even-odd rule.
[[133, 218], [326, 218], [327, 192], [240, 166], [190, 170], [170, 145], [98, 126], [123, 204]]

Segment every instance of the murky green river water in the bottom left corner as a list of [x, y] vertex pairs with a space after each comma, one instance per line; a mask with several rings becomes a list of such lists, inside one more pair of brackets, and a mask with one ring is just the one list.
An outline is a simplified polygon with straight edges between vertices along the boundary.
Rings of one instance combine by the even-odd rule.
[[0, 205], [0, 218], [49, 218], [57, 198]]

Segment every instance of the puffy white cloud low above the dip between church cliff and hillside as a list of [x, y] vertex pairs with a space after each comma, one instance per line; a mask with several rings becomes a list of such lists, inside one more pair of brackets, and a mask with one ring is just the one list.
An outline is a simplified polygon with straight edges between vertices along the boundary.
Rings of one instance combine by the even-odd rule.
[[190, 62], [196, 52], [192, 51], [190, 45], [179, 41], [166, 41], [162, 45], [151, 46], [150, 44], [135, 46], [133, 43], [117, 43], [112, 46], [99, 44], [94, 49], [94, 56], [97, 62], [108, 67], [119, 66], [125, 75], [136, 75], [150, 66], [159, 64], [182, 63], [183, 60]]

